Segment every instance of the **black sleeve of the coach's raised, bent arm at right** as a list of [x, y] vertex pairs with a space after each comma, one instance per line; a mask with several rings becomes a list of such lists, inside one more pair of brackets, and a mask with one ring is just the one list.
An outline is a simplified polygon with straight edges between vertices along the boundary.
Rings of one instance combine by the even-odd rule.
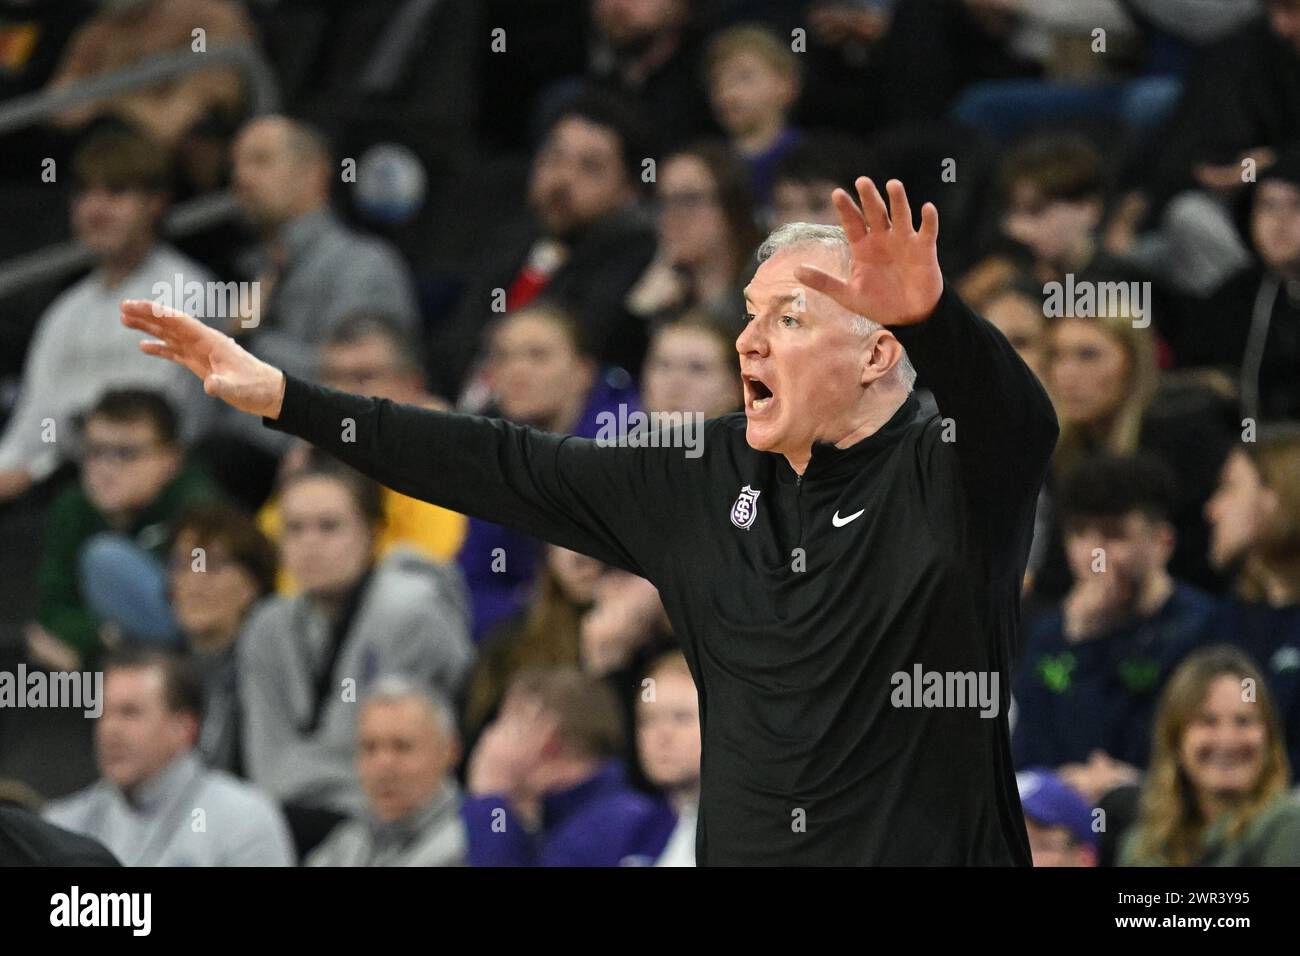
[[1060, 427], [1046, 392], [1001, 332], [945, 287], [933, 313], [896, 326], [916, 372], [952, 420], [970, 501], [998, 540], [1032, 515]]

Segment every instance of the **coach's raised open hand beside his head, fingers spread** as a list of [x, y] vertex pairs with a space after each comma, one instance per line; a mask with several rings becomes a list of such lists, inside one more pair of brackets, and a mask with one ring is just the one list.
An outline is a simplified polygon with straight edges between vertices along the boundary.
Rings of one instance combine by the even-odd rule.
[[881, 325], [913, 325], [935, 311], [944, 291], [939, 269], [939, 209], [926, 203], [920, 229], [911, 222], [911, 207], [902, 183], [890, 179], [889, 209], [876, 185], [864, 176], [854, 183], [862, 208], [837, 189], [831, 200], [849, 237], [853, 265], [848, 278], [832, 276], [815, 265], [800, 265], [794, 277], [809, 289], [829, 295], [855, 315]]

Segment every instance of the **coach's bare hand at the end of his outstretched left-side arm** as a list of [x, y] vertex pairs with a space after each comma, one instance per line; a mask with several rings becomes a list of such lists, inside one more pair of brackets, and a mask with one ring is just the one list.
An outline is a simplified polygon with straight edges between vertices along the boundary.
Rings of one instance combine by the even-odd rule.
[[209, 395], [251, 415], [280, 416], [283, 373], [230, 336], [147, 299], [122, 302], [122, 324], [152, 336], [140, 342], [140, 351], [185, 365]]

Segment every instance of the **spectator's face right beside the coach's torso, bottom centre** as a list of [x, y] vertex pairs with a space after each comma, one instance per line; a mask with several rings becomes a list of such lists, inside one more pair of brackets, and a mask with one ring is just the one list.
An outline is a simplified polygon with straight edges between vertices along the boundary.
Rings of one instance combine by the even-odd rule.
[[699, 696], [689, 675], [676, 670], [654, 678], [654, 700], [637, 701], [637, 749], [656, 787], [699, 783]]

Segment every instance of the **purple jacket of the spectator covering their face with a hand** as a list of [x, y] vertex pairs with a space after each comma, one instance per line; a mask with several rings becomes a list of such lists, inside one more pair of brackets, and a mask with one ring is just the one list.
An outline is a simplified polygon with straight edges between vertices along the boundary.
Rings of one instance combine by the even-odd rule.
[[471, 866], [650, 865], [677, 823], [666, 800], [628, 784], [618, 760], [576, 787], [543, 797], [536, 834], [498, 793], [468, 797], [462, 813]]

